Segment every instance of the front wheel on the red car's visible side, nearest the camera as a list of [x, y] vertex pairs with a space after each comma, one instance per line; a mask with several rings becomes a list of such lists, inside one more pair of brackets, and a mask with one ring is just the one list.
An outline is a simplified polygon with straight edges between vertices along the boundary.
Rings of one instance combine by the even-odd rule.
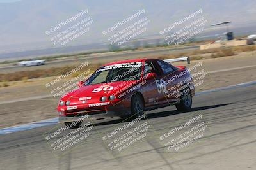
[[144, 115], [144, 100], [139, 94], [134, 94], [131, 101], [131, 112], [136, 117]]

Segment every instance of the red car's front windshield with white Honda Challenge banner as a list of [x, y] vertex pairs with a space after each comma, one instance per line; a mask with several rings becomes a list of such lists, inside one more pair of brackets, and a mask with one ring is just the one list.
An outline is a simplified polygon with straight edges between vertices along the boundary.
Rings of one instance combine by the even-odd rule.
[[141, 62], [127, 62], [100, 67], [84, 85], [138, 80], [141, 77], [141, 66]]

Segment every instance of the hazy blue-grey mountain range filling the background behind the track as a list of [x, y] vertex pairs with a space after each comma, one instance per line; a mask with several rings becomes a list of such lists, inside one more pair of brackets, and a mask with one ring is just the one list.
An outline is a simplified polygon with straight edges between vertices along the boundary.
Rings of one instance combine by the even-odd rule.
[[201, 8], [208, 20], [207, 27], [227, 20], [232, 21], [232, 27], [252, 27], [256, 23], [255, 0], [10, 0], [1, 3], [6, 1], [0, 1], [0, 53], [57, 47], [45, 31], [86, 9], [93, 19], [90, 32], [68, 45], [108, 42], [103, 30], [142, 9], [150, 19], [147, 31], [141, 35], [144, 37], [159, 36], [164, 27]]

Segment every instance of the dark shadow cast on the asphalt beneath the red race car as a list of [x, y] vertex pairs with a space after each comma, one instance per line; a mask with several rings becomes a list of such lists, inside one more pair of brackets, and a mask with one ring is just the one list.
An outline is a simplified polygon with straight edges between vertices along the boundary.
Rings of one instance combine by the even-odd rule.
[[[199, 110], [207, 110], [207, 109], [211, 109], [211, 108], [218, 108], [221, 106], [227, 106], [229, 104], [232, 104], [232, 103], [195, 107], [195, 108], [192, 108], [191, 111], [189, 111], [189, 112], [199, 111]], [[161, 111], [161, 112], [156, 112], [156, 113], [148, 113], [148, 114], [146, 114], [146, 117], [147, 117], [147, 119], [151, 119], [151, 118], [158, 118], [158, 117], [168, 117], [171, 115], [177, 115], [177, 114], [181, 114], [181, 113], [188, 113], [188, 112], [181, 112], [181, 111], [177, 111], [177, 110]], [[136, 117], [120, 118], [120, 119], [116, 119], [116, 120], [110, 120], [110, 121], [106, 121], [106, 122], [96, 123], [93, 125], [99, 126], [99, 125], [119, 124], [121, 122], [131, 122], [132, 120], [134, 120], [134, 118], [136, 118]]]

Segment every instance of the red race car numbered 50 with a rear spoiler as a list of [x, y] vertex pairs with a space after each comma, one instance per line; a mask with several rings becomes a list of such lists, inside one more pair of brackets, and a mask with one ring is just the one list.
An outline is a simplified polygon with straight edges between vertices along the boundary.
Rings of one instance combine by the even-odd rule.
[[[79, 127], [84, 117], [141, 116], [144, 111], [175, 105], [179, 111], [191, 110], [195, 86], [185, 66], [168, 62], [178, 59], [134, 59], [106, 64], [95, 71], [79, 89], [60, 99], [60, 122]], [[79, 121], [77, 121], [79, 120]]]

